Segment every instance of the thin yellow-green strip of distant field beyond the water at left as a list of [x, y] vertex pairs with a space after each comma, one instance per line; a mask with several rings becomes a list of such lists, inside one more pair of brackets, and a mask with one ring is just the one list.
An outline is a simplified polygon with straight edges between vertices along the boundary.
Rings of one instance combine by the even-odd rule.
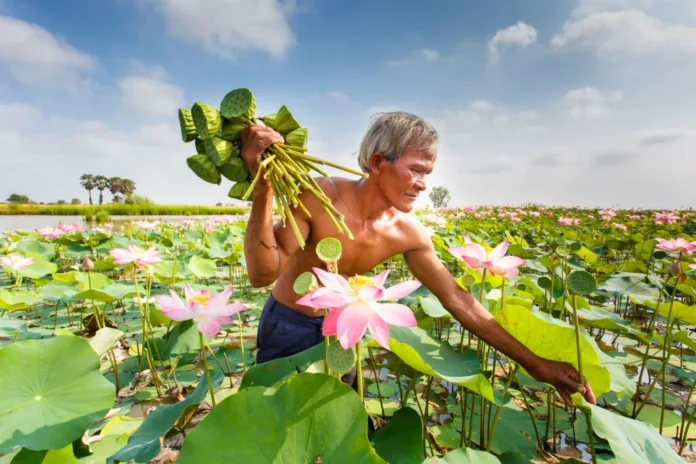
[[196, 205], [0, 205], [0, 215], [94, 216], [104, 211], [111, 216], [197, 216], [215, 214], [244, 214], [242, 206]]

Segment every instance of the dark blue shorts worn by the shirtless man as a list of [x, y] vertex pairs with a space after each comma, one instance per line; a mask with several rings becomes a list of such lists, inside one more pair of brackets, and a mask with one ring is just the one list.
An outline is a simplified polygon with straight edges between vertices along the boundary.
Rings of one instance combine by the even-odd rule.
[[256, 334], [256, 363], [284, 358], [324, 342], [324, 317], [309, 317], [269, 295]]

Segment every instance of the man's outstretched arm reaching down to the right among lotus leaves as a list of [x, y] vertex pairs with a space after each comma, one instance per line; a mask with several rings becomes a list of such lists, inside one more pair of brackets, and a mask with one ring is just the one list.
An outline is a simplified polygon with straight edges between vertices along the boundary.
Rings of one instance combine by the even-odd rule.
[[419, 230], [417, 246], [405, 253], [413, 275], [420, 280], [459, 323], [499, 352], [522, 366], [535, 379], [556, 387], [569, 404], [570, 395], [585, 394], [594, 403], [592, 388], [569, 363], [551, 361], [532, 353], [510, 335], [493, 316], [467, 291], [462, 289], [447, 268], [440, 262], [435, 248], [424, 230]]

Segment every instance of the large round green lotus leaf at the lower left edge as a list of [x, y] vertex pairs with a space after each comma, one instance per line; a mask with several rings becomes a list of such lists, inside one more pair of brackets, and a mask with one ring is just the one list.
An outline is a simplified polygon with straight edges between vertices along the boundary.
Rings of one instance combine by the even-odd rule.
[[99, 355], [82, 337], [24, 340], [0, 349], [0, 453], [59, 449], [114, 403]]

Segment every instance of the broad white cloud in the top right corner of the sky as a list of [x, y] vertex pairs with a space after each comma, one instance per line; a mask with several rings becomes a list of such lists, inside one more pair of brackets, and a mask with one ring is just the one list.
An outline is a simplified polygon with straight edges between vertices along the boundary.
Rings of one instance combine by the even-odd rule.
[[566, 21], [551, 45], [591, 50], [605, 59], [683, 57], [696, 54], [696, 28], [666, 24], [639, 10], [609, 11]]

